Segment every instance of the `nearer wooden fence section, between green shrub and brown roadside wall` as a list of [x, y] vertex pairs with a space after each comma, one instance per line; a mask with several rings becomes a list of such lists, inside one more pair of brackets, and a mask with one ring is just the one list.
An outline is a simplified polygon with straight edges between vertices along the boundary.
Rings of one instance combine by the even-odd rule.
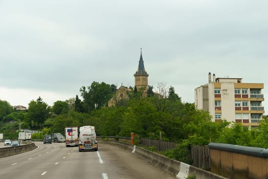
[[210, 170], [210, 153], [208, 145], [191, 147], [192, 165]]

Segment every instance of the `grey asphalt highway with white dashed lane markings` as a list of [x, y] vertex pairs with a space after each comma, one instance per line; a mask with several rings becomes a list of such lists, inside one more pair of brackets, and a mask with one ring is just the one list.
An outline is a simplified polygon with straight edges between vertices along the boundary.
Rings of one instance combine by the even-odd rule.
[[35, 144], [33, 151], [1, 158], [0, 178], [176, 178], [118, 146], [99, 143], [99, 151], [79, 152], [65, 143]]

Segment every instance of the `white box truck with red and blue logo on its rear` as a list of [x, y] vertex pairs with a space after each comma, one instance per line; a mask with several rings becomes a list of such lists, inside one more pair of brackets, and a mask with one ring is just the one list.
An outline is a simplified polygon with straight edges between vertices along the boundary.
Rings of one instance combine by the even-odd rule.
[[65, 127], [65, 145], [78, 146], [78, 127]]

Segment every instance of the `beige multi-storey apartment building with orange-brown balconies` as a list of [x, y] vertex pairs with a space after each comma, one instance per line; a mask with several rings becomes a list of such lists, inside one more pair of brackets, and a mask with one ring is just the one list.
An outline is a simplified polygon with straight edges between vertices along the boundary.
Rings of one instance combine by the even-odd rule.
[[226, 119], [243, 126], [258, 126], [264, 114], [263, 83], [242, 83], [242, 78], [216, 78], [194, 89], [197, 109], [209, 111], [212, 121]]

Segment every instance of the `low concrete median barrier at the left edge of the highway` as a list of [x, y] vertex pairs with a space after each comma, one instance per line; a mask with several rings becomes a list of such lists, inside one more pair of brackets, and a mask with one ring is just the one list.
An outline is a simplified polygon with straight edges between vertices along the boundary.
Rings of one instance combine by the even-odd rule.
[[6, 156], [11, 156], [11, 155], [16, 155], [19, 153], [28, 152], [28, 151], [34, 150], [36, 148], [37, 148], [37, 146], [35, 145], [35, 143], [20, 145], [20, 146], [16, 146], [16, 147], [0, 148], [0, 158], [6, 157]]

